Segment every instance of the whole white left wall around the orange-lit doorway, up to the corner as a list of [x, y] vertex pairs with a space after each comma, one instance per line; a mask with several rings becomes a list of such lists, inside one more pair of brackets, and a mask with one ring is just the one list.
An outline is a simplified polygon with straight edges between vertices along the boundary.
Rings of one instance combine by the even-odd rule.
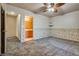
[[[25, 16], [33, 16], [33, 25], [34, 25], [34, 29], [33, 29], [33, 38], [34, 39], [39, 39], [39, 38], [44, 38], [44, 37], [48, 37], [49, 34], [49, 27], [48, 27], [48, 22], [49, 22], [49, 18], [43, 15], [38, 15], [38, 14], [34, 14], [28, 10], [24, 10], [21, 8], [17, 8], [17, 7], [13, 7], [11, 5], [6, 5], [4, 6], [6, 12], [10, 12], [10, 11], [14, 11], [17, 14], [20, 14], [20, 21], [19, 21], [19, 39], [21, 40], [21, 42], [24, 42], [24, 18]], [[48, 31], [46, 31], [48, 30]]]

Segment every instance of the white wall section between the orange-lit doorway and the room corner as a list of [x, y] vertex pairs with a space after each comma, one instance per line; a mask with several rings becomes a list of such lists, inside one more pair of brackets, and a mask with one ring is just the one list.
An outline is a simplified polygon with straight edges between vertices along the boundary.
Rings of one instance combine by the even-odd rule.
[[34, 17], [34, 39], [49, 37], [49, 18], [42, 15]]

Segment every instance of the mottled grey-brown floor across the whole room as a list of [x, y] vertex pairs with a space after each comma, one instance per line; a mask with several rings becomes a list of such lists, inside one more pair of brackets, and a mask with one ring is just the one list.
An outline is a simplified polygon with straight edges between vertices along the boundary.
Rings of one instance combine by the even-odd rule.
[[5, 56], [79, 56], [79, 42], [54, 37], [20, 43], [7, 40]]

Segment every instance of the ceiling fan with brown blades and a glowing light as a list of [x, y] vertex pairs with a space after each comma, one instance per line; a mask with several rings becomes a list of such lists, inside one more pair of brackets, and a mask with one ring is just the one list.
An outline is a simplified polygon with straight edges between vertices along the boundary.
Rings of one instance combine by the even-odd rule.
[[64, 4], [65, 3], [43, 3], [43, 6], [40, 7], [36, 12], [58, 12], [58, 9]]

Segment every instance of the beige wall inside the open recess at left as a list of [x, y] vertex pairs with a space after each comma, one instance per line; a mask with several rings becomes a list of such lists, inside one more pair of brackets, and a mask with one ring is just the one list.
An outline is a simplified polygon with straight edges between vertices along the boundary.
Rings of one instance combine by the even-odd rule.
[[17, 15], [6, 14], [5, 20], [6, 39], [17, 37]]

